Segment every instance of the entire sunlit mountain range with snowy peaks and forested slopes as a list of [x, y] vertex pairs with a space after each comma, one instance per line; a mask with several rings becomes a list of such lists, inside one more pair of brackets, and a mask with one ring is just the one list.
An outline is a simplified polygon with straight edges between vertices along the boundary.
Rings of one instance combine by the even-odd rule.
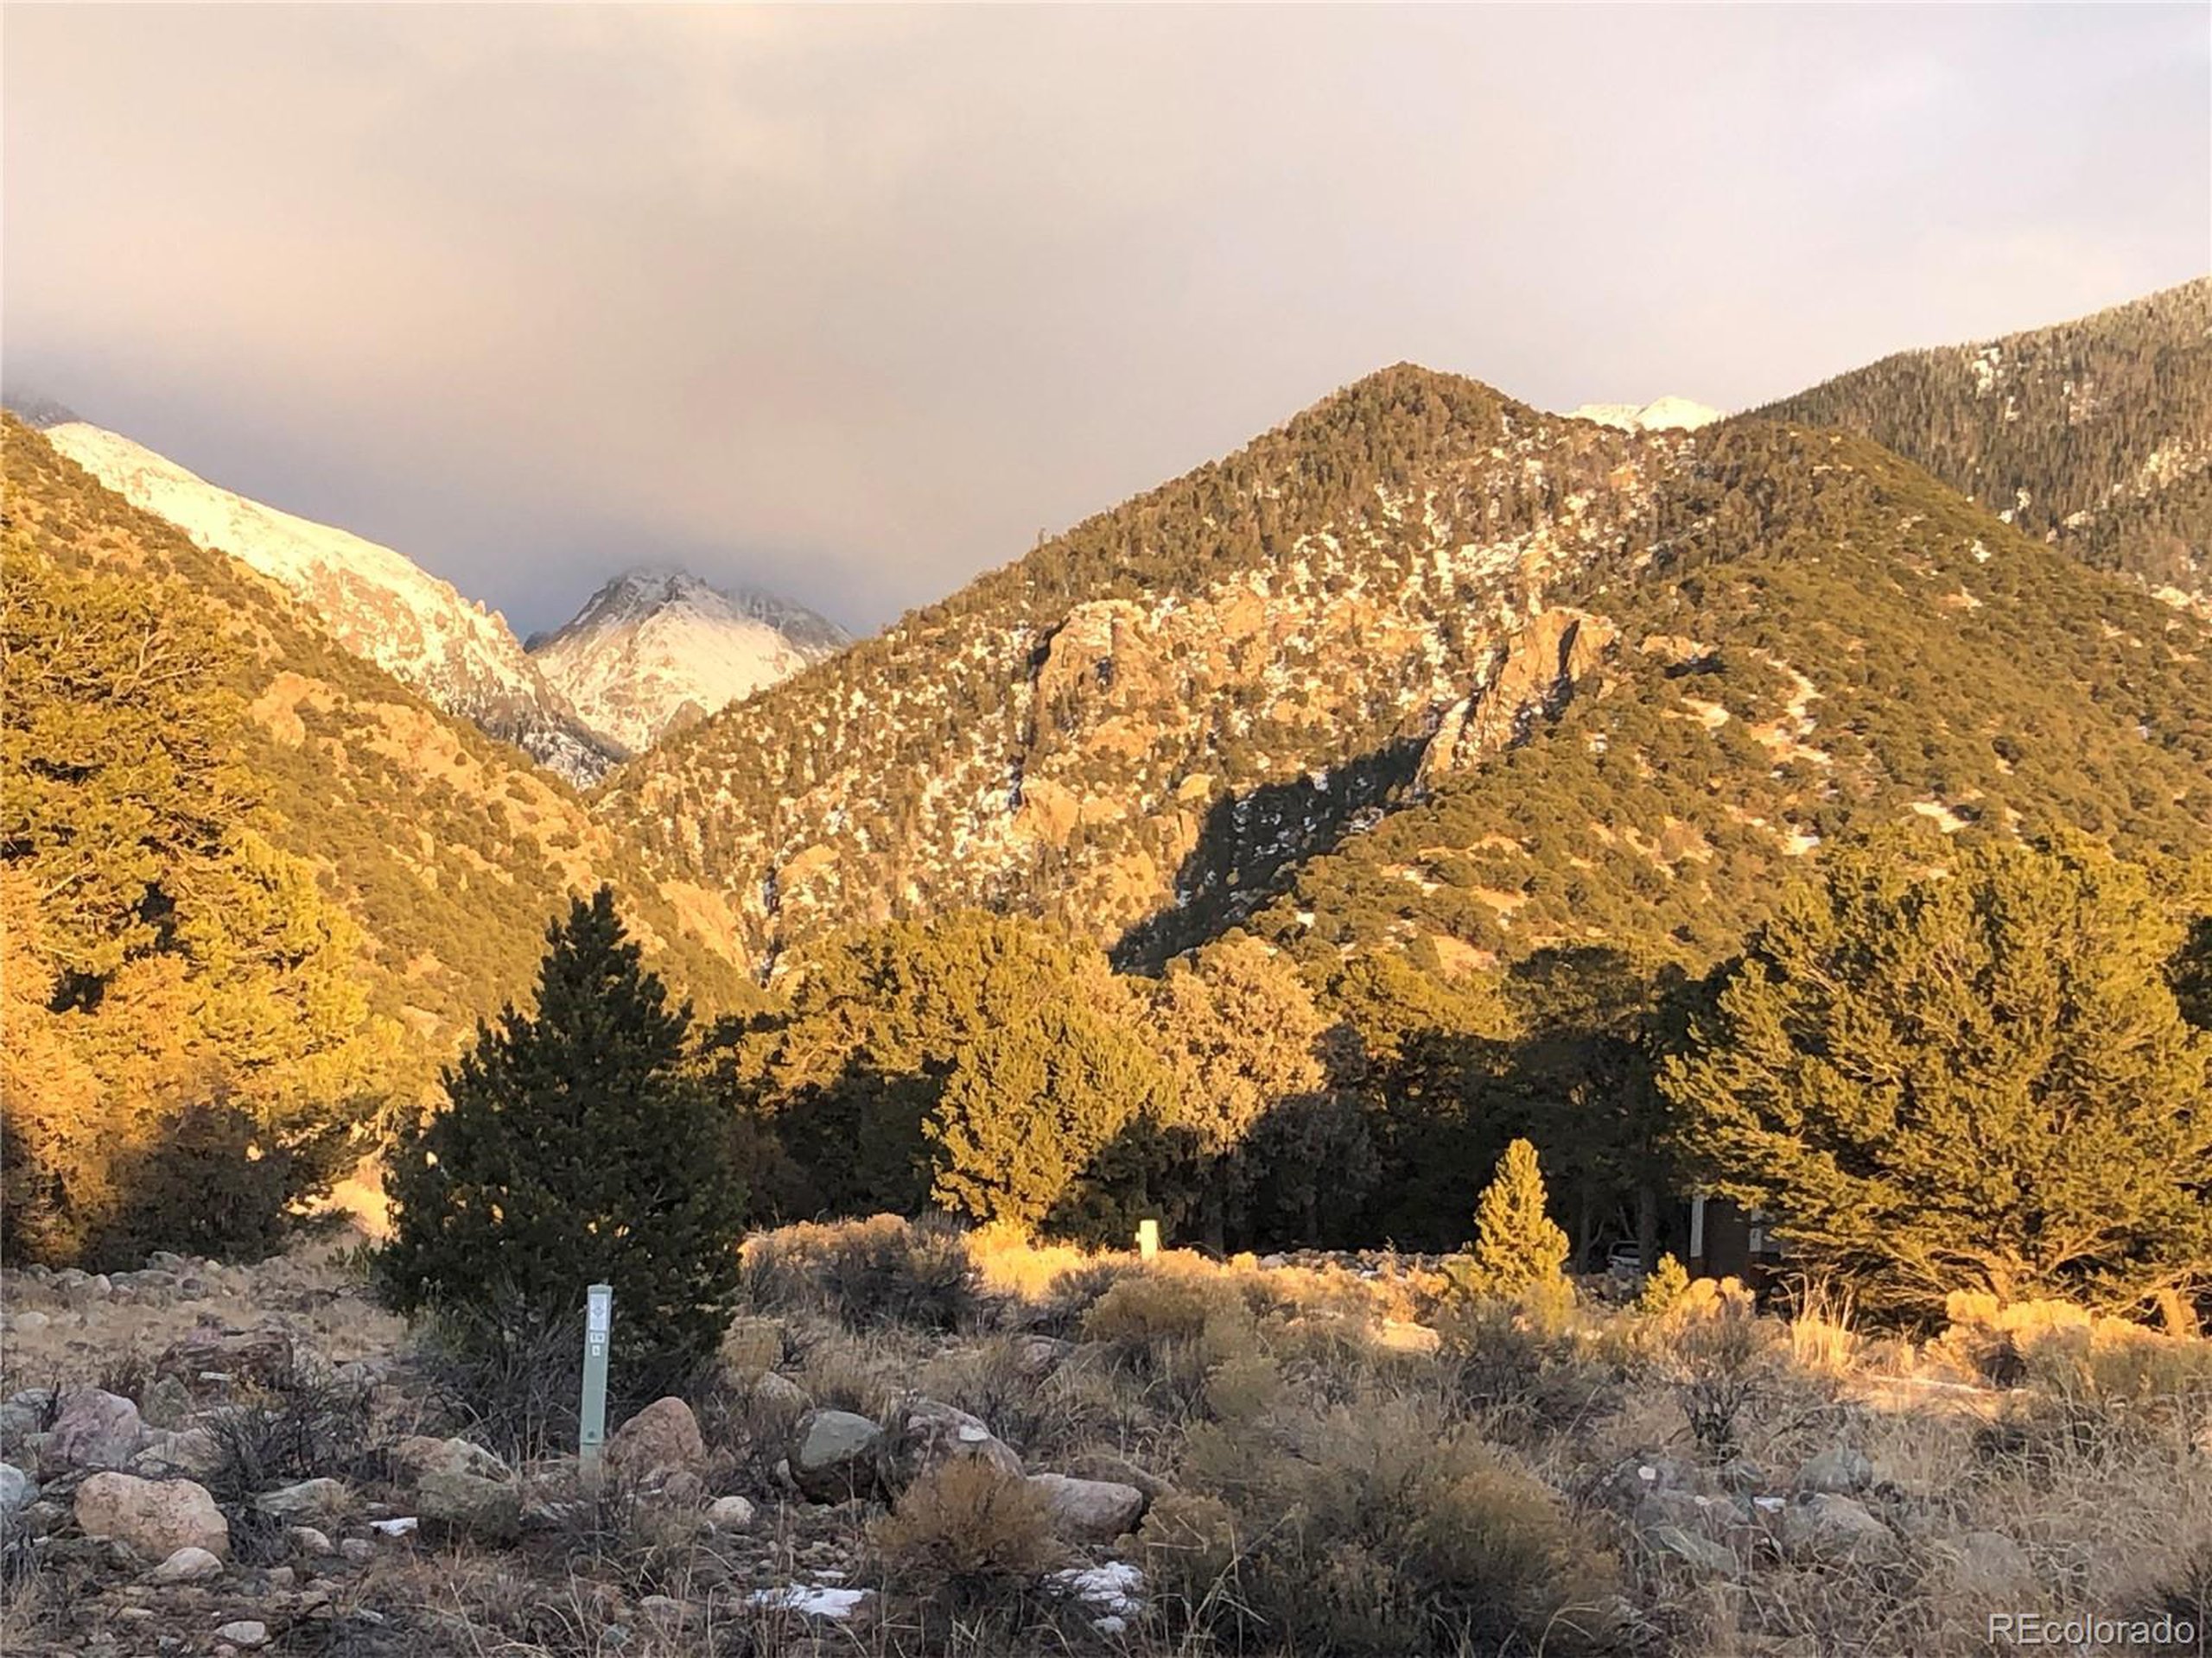
[[[1241, 926], [1323, 984], [1697, 966], [1871, 825], [2212, 847], [2208, 338], [2199, 281], [1728, 418], [1398, 365], [852, 643], [633, 570], [524, 652], [77, 422], [9, 422], [9, 517], [259, 641], [250, 765], [418, 1054], [597, 880], [708, 1008], [956, 906], [1141, 968]], [[471, 685], [635, 756], [577, 798]]]

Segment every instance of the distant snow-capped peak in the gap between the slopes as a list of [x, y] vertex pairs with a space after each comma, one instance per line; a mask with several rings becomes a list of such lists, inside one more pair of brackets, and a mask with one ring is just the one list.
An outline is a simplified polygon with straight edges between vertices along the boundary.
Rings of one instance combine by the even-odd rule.
[[535, 634], [529, 650], [593, 730], [648, 749], [847, 643], [852, 634], [834, 621], [787, 599], [639, 568], [591, 595], [568, 626]]

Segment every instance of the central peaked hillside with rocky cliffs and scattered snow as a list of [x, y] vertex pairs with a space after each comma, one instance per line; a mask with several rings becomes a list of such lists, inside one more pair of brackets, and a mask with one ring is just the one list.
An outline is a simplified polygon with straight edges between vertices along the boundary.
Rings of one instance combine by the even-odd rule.
[[1363, 820], [1690, 453], [1398, 367], [666, 743], [599, 809], [765, 966], [958, 904], [1135, 959]]

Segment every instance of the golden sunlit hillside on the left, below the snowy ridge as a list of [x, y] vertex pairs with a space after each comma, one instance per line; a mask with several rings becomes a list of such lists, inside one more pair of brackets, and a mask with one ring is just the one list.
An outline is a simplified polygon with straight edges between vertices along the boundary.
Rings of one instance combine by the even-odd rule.
[[[734, 986], [710, 944], [714, 906], [690, 904], [688, 922], [557, 778], [349, 654], [274, 584], [133, 508], [13, 418], [4, 451], [11, 595], [18, 579], [58, 575], [86, 604], [155, 592], [166, 615], [204, 617], [234, 648], [219, 663], [239, 703], [223, 727], [232, 809], [358, 924], [354, 977], [398, 1032], [378, 1088], [425, 1083], [480, 1015], [526, 988], [546, 922], [599, 880], [681, 986], [708, 1001]], [[27, 641], [11, 676], [60, 650]], [[18, 851], [11, 831], [11, 864]]]

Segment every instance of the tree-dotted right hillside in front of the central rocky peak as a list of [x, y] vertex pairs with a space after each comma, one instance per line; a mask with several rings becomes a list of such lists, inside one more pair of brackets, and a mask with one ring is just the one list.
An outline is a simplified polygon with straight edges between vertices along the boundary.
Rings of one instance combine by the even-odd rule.
[[[1489, 968], [1604, 942], [1694, 968], [1790, 860], [1924, 818], [2212, 844], [2212, 628], [1860, 438], [1730, 422], [1526, 741], [1307, 864], [1263, 931]], [[1544, 632], [1540, 617], [1531, 632]]]

